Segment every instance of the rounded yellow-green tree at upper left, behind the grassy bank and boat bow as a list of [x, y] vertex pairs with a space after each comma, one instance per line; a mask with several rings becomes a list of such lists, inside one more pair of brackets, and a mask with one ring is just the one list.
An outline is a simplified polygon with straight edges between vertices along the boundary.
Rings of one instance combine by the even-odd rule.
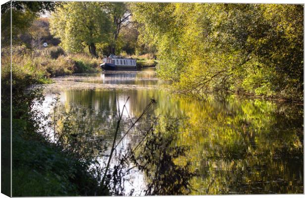
[[51, 33], [67, 51], [89, 52], [97, 57], [96, 44], [109, 40], [111, 21], [103, 2], [67, 2], [51, 14]]

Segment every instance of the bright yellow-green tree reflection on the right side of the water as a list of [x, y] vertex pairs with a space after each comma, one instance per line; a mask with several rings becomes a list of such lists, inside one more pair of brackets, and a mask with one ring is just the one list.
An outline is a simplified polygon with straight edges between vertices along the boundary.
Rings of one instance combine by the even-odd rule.
[[188, 119], [178, 144], [191, 146], [202, 175], [192, 182], [194, 194], [303, 193], [302, 106], [259, 100], [180, 106]]

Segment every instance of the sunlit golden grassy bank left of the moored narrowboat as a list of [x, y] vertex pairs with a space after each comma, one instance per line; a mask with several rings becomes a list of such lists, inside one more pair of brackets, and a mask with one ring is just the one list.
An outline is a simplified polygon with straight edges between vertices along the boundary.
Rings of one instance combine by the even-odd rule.
[[12, 49], [12, 53], [14, 69], [26, 70], [29, 75], [35, 73], [42, 80], [60, 75], [101, 71], [99, 59], [83, 53], [66, 53], [60, 47], [31, 50], [17, 46]]

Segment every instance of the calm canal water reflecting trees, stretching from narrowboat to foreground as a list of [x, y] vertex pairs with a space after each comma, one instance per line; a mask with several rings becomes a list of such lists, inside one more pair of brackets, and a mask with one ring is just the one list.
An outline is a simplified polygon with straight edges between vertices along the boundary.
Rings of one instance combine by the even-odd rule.
[[[114, 71], [59, 77], [46, 87], [42, 107], [59, 97], [59, 111], [90, 109], [85, 119], [106, 141], [108, 152], [118, 115], [123, 111], [116, 155], [142, 140], [153, 120], [156, 128], [173, 123], [172, 145], [187, 148], [174, 161], [190, 162], [197, 175], [190, 179], [192, 195], [304, 193], [304, 106], [262, 99], [210, 98], [205, 101], [176, 96], [157, 79], [154, 69]], [[124, 136], [154, 99], [149, 112]], [[175, 124], [174, 124], [175, 123]], [[143, 131], [143, 132], [142, 132]], [[106, 158], [100, 158], [105, 161]], [[116, 163], [114, 160], [112, 163]], [[132, 169], [125, 192], [142, 195], [151, 178]]]

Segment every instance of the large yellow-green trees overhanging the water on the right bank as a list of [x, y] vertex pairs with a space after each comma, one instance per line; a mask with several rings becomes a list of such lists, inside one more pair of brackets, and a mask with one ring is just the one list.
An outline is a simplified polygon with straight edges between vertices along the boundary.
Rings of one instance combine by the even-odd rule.
[[184, 94], [303, 100], [304, 6], [133, 3], [159, 76]]

